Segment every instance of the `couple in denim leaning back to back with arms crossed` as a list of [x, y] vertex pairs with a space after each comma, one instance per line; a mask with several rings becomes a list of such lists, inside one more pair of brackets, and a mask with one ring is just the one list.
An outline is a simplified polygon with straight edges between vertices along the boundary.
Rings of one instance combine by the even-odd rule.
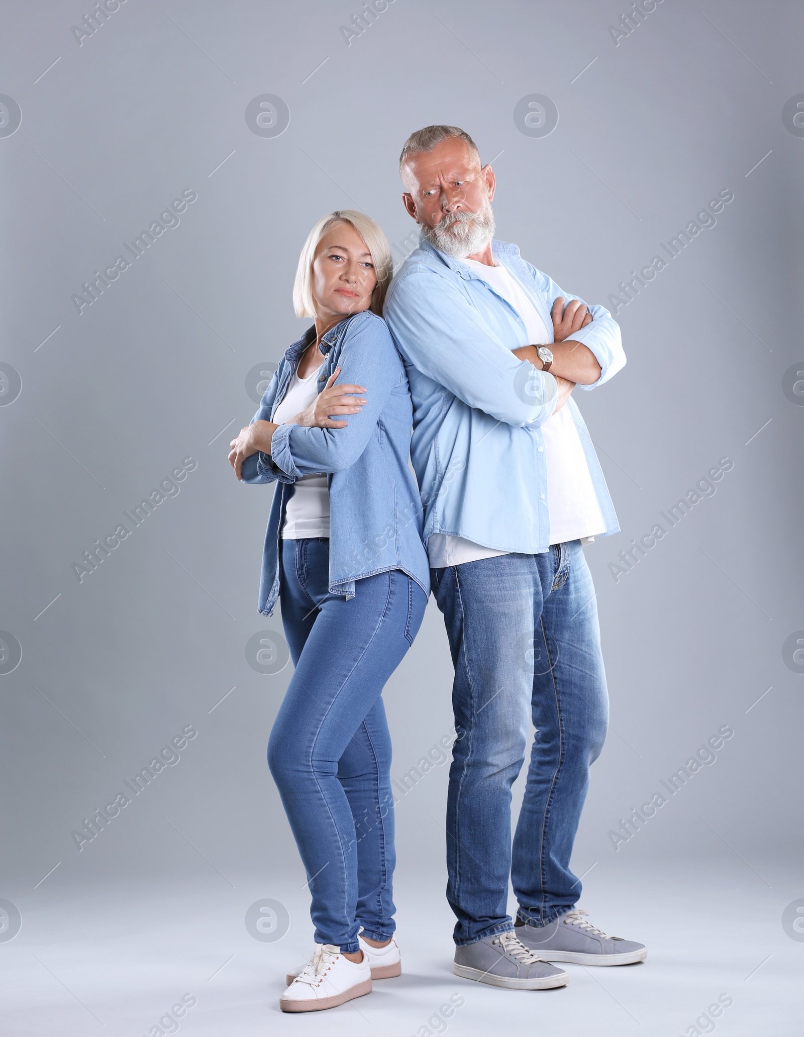
[[608, 723], [582, 545], [618, 529], [572, 393], [623, 366], [619, 328], [495, 240], [495, 176], [463, 130], [414, 133], [399, 171], [419, 248], [391, 283], [372, 220], [318, 221], [294, 287], [297, 314], [314, 324], [230, 445], [238, 478], [277, 482], [259, 611], [280, 601], [296, 668], [268, 758], [308, 877], [315, 951], [287, 976], [287, 1012], [334, 1007], [401, 972], [382, 691], [431, 589], [455, 669], [453, 972], [532, 990], [566, 983], [553, 962], [646, 956], [586, 920], [570, 870]]

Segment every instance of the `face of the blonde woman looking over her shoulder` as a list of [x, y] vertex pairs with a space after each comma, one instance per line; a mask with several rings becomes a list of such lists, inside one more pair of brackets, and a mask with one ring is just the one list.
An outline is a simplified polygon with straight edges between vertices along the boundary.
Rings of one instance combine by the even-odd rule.
[[377, 274], [371, 253], [351, 223], [338, 223], [318, 242], [312, 261], [312, 299], [322, 320], [371, 305]]

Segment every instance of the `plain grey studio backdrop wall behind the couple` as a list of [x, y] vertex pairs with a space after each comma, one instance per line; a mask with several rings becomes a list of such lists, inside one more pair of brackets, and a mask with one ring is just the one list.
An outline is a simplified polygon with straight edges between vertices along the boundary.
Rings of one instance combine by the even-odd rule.
[[[245, 655], [254, 634], [281, 629], [278, 612], [256, 612], [272, 491], [237, 483], [228, 441], [255, 410], [247, 372], [305, 327], [290, 290], [313, 222], [360, 207], [395, 258], [410, 250], [396, 162], [431, 122], [464, 127], [494, 159], [498, 236], [592, 302], [718, 191], [734, 194], [620, 310], [625, 370], [576, 392], [622, 532], [586, 548], [612, 729], [574, 866], [605, 882], [722, 861], [781, 932], [804, 896], [796, 868], [767, 880], [801, 853], [804, 681], [782, 644], [804, 628], [804, 409], [782, 377], [804, 361], [804, 140], [781, 111], [804, 91], [804, 11], [665, 0], [615, 46], [608, 26], [625, 9], [395, 0], [345, 46], [348, 3], [128, 0], [78, 46], [80, 5], [3, 5], [0, 93], [23, 118], [0, 139], [0, 362], [22, 391], [0, 407], [0, 627], [23, 656], [0, 676], [0, 896], [23, 930], [0, 952], [31, 934], [26, 913], [47, 943], [36, 912], [101, 889], [256, 876], [232, 894], [238, 926], [260, 896], [299, 896], [265, 761], [290, 668], [262, 675]], [[280, 136], [247, 125], [262, 93], [289, 108]], [[559, 112], [540, 139], [514, 121], [530, 93]], [[179, 225], [79, 315], [71, 296], [184, 189], [198, 199]], [[79, 584], [73, 563], [188, 456], [181, 493]], [[617, 552], [724, 456], [717, 494], [615, 582]], [[393, 777], [449, 732], [450, 681], [431, 600], [385, 695]], [[71, 832], [188, 724], [198, 736], [181, 761], [79, 852]], [[736, 733], [717, 762], [615, 852], [618, 819], [725, 724]], [[397, 889], [411, 898], [443, 889], [446, 770], [397, 807]]]

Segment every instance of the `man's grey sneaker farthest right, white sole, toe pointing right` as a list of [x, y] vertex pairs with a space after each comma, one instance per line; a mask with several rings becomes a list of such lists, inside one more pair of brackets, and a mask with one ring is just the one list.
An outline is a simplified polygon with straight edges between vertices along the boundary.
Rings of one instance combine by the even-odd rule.
[[647, 948], [632, 940], [609, 936], [583, 918], [586, 910], [571, 910], [536, 928], [517, 919], [516, 932], [522, 943], [547, 961], [574, 961], [580, 965], [631, 965], [644, 961]]

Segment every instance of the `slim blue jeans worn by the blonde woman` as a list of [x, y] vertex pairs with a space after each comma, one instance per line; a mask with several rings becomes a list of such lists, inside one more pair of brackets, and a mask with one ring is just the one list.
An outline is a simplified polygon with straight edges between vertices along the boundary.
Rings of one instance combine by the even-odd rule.
[[316, 944], [350, 953], [394, 931], [391, 739], [382, 691], [427, 597], [399, 569], [330, 594], [329, 540], [282, 540], [282, 623], [296, 671], [268, 762], [312, 894]]

